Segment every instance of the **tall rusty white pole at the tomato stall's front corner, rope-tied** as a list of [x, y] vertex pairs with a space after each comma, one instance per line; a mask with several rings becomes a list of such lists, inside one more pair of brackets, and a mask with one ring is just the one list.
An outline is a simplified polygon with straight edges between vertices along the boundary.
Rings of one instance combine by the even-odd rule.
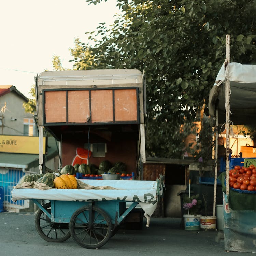
[[226, 195], [229, 195], [229, 114], [230, 114], [230, 82], [228, 77], [228, 64], [230, 62], [230, 35], [226, 35], [226, 79], [225, 79], [225, 105], [226, 105]]

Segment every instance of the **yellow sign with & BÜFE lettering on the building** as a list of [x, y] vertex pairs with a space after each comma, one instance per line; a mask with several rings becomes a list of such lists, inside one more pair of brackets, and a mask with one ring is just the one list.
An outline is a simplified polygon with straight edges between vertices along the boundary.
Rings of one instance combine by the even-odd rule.
[[[46, 138], [43, 137], [43, 154]], [[0, 152], [39, 154], [39, 138], [35, 136], [0, 135]]]

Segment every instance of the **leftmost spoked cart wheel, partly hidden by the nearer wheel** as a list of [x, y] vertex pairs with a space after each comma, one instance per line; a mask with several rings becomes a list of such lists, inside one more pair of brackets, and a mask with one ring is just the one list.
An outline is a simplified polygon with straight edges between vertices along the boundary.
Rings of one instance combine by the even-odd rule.
[[[43, 208], [51, 213], [51, 203], [44, 204]], [[51, 222], [41, 209], [35, 215], [35, 228], [47, 242], [63, 242], [70, 238], [68, 223]]]

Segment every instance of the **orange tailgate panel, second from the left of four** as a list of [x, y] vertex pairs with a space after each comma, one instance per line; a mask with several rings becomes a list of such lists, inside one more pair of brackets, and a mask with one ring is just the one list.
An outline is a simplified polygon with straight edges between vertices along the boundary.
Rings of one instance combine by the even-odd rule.
[[68, 91], [68, 123], [87, 123], [89, 117], [89, 91]]

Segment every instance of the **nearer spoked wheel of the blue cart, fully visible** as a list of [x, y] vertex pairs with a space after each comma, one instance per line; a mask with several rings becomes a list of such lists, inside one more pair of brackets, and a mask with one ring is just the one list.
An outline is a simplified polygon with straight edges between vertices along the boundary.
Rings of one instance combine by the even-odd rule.
[[69, 230], [77, 244], [88, 249], [96, 249], [110, 239], [112, 223], [108, 214], [100, 208], [85, 206], [71, 216]]

